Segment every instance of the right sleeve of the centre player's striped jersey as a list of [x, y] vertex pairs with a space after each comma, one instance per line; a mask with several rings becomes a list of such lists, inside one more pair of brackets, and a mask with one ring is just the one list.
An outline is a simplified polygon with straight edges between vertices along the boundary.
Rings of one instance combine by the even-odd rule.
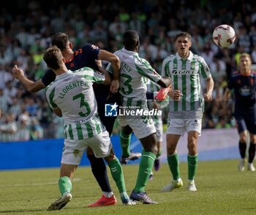
[[135, 59], [135, 69], [143, 77], [150, 79], [152, 82], [158, 82], [161, 76], [153, 69], [153, 67], [148, 63], [147, 60], [143, 58]]

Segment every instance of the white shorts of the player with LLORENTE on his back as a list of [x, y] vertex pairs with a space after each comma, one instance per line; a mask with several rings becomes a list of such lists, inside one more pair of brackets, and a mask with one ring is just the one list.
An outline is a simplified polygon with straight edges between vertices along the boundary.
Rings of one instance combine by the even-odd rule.
[[108, 131], [94, 135], [85, 140], [64, 140], [61, 163], [69, 165], [79, 165], [87, 147], [94, 151], [95, 157], [106, 157], [110, 153], [112, 144], [108, 136]]

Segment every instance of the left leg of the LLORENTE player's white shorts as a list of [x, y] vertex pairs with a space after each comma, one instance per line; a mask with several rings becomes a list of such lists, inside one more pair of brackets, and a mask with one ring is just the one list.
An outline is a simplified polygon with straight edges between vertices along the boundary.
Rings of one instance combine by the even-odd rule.
[[79, 165], [86, 147], [86, 140], [64, 140], [61, 164]]

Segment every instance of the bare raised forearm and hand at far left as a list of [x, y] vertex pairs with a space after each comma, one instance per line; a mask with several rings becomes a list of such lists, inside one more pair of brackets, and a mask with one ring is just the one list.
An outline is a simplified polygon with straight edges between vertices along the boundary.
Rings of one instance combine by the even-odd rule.
[[29, 93], [37, 93], [39, 90], [45, 88], [45, 85], [42, 83], [42, 80], [39, 79], [37, 82], [33, 82], [24, 75], [24, 71], [19, 69], [17, 65], [15, 65], [12, 69], [12, 75], [15, 79], [18, 79], [23, 85], [23, 87], [29, 91]]

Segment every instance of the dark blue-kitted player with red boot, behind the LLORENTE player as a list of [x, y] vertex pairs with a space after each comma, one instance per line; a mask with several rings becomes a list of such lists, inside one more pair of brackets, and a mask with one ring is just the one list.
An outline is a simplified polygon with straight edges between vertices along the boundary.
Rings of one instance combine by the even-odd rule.
[[[118, 79], [119, 79], [119, 69], [120, 61], [116, 55], [113, 55], [110, 52], [105, 50], [100, 50], [99, 47], [93, 44], [86, 44], [78, 51], [73, 52], [72, 43], [69, 42], [67, 34], [57, 33], [52, 36], [52, 44], [59, 47], [62, 52], [63, 57], [66, 60], [67, 69], [75, 71], [84, 66], [90, 67], [94, 70], [99, 70], [97, 60], [107, 60], [113, 66], [113, 80], [111, 85], [95, 85], [94, 93], [97, 99], [98, 113], [100, 120], [103, 125], [105, 125], [108, 133], [112, 133], [113, 124], [116, 117], [107, 117], [105, 118], [105, 103], [115, 103], [118, 99], [117, 90], [118, 90]], [[30, 93], [36, 93], [39, 90], [47, 87], [53, 82], [56, 78], [56, 74], [52, 70], [48, 70], [42, 79], [33, 82], [27, 79], [23, 72], [18, 69], [12, 70], [13, 76], [20, 80], [23, 87], [26, 88]], [[113, 93], [116, 94], [113, 94]], [[94, 173], [95, 179], [97, 179], [99, 187], [101, 187], [103, 195], [102, 198], [97, 200], [96, 203], [91, 204], [91, 207], [94, 206], [110, 206], [116, 204], [116, 198], [113, 195], [110, 183], [108, 180], [108, 173], [105, 167], [104, 160], [102, 158], [96, 158], [90, 148], [87, 149], [87, 157], [91, 163], [91, 171]]]

